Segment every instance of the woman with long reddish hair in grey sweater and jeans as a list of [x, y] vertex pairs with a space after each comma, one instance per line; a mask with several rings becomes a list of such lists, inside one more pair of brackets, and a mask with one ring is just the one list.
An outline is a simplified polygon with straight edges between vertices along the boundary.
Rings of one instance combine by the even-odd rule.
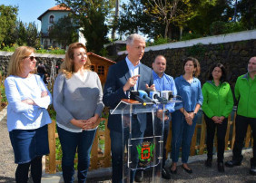
[[72, 43], [54, 83], [54, 110], [63, 150], [64, 182], [74, 181], [74, 155], [78, 153], [78, 181], [85, 182], [90, 152], [103, 111], [103, 92], [83, 43]]

